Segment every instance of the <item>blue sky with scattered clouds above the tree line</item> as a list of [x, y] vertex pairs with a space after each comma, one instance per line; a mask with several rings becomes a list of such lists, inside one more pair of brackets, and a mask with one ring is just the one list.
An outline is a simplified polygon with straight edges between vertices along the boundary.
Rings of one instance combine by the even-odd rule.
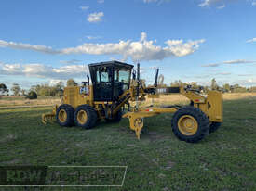
[[123, 60], [165, 83], [256, 85], [256, 0], [6, 0], [0, 83], [81, 82], [86, 65]]

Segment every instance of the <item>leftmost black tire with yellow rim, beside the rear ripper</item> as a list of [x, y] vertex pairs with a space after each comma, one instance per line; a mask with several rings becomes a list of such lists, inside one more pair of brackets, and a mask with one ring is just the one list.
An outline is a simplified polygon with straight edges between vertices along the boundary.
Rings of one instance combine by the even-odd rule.
[[74, 125], [74, 108], [68, 104], [62, 104], [56, 111], [56, 121], [62, 127]]

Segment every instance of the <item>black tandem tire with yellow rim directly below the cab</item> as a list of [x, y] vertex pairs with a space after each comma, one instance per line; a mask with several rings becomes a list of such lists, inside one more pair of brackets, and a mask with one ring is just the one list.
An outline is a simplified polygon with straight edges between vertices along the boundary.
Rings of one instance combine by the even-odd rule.
[[79, 127], [91, 129], [95, 126], [97, 119], [97, 113], [91, 106], [81, 105], [75, 109], [74, 122]]

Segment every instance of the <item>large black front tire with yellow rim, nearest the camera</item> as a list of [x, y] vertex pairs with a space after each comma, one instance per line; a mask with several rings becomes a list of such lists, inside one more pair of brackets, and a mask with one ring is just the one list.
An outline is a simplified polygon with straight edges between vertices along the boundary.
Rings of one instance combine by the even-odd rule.
[[199, 108], [180, 108], [171, 120], [173, 133], [182, 141], [196, 143], [209, 134], [209, 120]]

